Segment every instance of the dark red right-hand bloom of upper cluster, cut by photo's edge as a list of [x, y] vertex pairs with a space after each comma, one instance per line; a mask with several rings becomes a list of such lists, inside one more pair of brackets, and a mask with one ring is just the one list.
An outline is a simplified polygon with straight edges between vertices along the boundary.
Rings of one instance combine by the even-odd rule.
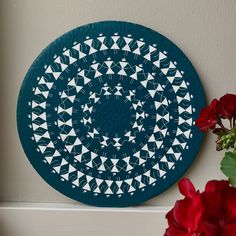
[[223, 118], [236, 118], [236, 94], [225, 94], [219, 101], [219, 113]]

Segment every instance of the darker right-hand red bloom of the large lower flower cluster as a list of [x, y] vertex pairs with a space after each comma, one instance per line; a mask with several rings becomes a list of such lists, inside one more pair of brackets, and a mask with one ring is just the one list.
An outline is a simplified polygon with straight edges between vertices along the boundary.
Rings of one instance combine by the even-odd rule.
[[201, 194], [207, 235], [236, 235], [236, 188], [228, 181], [209, 181]]

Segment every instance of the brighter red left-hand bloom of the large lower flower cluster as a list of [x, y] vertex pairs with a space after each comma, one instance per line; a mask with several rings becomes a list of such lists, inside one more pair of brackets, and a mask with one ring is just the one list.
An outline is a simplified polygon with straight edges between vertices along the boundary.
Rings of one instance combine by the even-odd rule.
[[167, 213], [169, 228], [165, 236], [204, 236], [200, 193], [188, 179], [179, 182], [179, 189], [185, 198], [177, 201], [175, 207]]

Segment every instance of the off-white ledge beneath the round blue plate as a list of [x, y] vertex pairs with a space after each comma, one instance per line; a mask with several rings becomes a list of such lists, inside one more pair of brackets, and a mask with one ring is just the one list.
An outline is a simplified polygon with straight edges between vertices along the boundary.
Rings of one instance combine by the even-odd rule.
[[99, 208], [81, 204], [0, 203], [2, 236], [163, 235], [169, 207]]

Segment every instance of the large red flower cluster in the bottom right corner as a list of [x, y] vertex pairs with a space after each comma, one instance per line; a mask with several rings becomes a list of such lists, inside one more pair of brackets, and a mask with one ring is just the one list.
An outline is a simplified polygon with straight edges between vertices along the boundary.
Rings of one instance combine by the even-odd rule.
[[228, 181], [209, 181], [200, 193], [188, 179], [182, 179], [179, 189], [185, 198], [167, 213], [165, 236], [236, 235], [236, 188]]

